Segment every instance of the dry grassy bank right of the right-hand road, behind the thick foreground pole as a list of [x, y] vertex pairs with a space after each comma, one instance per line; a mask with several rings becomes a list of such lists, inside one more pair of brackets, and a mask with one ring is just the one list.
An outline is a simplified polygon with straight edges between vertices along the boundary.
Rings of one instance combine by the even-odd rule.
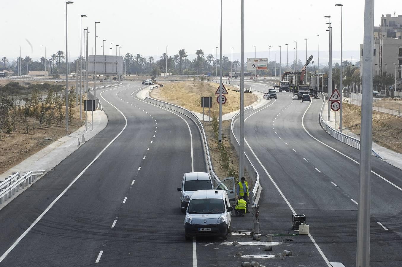
[[[342, 123], [353, 133], [360, 135], [361, 107], [344, 104]], [[373, 111], [373, 141], [398, 153], [402, 153], [402, 118]]]

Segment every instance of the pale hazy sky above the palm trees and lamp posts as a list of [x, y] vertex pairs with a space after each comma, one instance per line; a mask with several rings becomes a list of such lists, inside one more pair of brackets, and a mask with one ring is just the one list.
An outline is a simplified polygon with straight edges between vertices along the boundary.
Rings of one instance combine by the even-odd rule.
[[[47, 58], [57, 50], [66, 52], [66, 1], [60, 0], [13, 0], [2, 4], [0, 22], [2, 42], [0, 57], [6, 56], [10, 62], [21, 55], [29, 55], [33, 60], [43, 56], [45, 46]], [[281, 61], [286, 62], [286, 46], [289, 44], [289, 62], [294, 58], [293, 48], [297, 41], [297, 58], [305, 61], [306, 40], [308, 55], [316, 60], [318, 37], [320, 34], [320, 60], [328, 58], [328, 32], [324, 15], [331, 16], [333, 27], [333, 56], [339, 58], [340, 49], [340, 7], [343, 6], [343, 51], [344, 59], [359, 60], [359, 44], [363, 40], [364, 0], [333, 1], [244, 1], [244, 52], [245, 58], [269, 57], [267, 51], [272, 46], [272, 60], [279, 62], [279, 47], [282, 46]], [[378, 26], [382, 14], [394, 16], [402, 14], [400, 0], [375, 2], [374, 25]], [[105, 41], [105, 54], [116, 54], [116, 44], [122, 46], [121, 54], [141, 54], [148, 58], [166, 52], [174, 55], [184, 48], [192, 59], [195, 50], [203, 49], [205, 55], [215, 55], [219, 47], [220, 1], [219, 0], [75, 0], [68, 5], [68, 51], [74, 59], [80, 55], [80, 15], [82, 29], [90, 31], [89, 51], [94, 47], [94, 22], [96, 26], [96, 54], [101, 54]], [[32, 44], [32, 49], [29, 43]], [[223, 1], [223, 54], [233, 60], [240, 59], [240, 0]], [[117, 52], [119, 53], [119, 52]], [[219, 48], [218, 48], [219, 58]]]

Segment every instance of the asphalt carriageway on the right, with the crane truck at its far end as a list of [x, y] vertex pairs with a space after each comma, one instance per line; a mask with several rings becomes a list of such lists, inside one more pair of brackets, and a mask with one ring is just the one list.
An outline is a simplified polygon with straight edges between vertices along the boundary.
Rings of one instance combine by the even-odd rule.
[[[277, 261], [279, 266], [306, 262], [307, 266], [327, 266], [325, 259], [355, 266], [359, 165], [351, 159], [359, 161], [359, 151], [320, 127], [321, 106], [322, 99], [313, 99], [310, 105], [282, 92], [268, 106], [245, 115], [245, 139], [250, 146], [245, 143], [245, 150], [263, 187], [261, 229], [292, 234], [293, 212], [305, 214], [310, 224], [312, 238], [284, 241], [295, 253], [289, 258], [291, 264]], [[402, 171], [375, 157], [372, 169], [382, 178], [371, 175], [371, 266], [400, 266]]]

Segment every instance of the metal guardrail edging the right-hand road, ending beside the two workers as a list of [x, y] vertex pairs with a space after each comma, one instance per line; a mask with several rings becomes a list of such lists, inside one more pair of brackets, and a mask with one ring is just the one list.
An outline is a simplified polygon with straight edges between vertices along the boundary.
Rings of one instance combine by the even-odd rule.
[[[248, 111], [248, 110], [252, 111], [253, 107], [249, 106], [249, 107], [244, 108], [244, 111]], [[238, 156], [240, 157], [240, 143], [239, 143], [239, 140], [237, 140], [237, 138], [233, 132], [234, 122], [236, 121], [236, 119], [238, 119], [239, 116], [240, 116], [240, 112], [236, 113], [232, 117], [232, 121], [230, 123], [230, 140], [233, 140], [232, 144], [233, 144]], [[234, 142], [234, 141], [236, 141], [236, 142]], [[262, 189], [262, 187], [260, 185], [260, 175], [258, 175], [257, 170], [255, 169], [254, 165], [251, 163], [251, 160], [250, 160], [250, 158], [248, 158], [246, 152], [244, 152], [243, 157], [245, 159], [244, 162], [246, 163], [244, 168], [246, 168], [251, 179], [254, 181], [254, 187], [252, 189], [252, 201], [254, 202], [255, 197], [257, 196], [258, 189]]]

